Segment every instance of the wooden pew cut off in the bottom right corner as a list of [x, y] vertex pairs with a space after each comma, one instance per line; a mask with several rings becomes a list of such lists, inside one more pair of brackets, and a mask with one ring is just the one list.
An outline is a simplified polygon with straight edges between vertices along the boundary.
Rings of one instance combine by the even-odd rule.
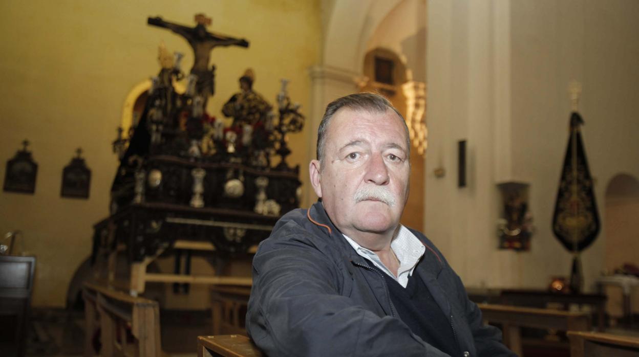
[[610, 333], [568, 331], [572, 357], [639, 356], [639, 338]]

